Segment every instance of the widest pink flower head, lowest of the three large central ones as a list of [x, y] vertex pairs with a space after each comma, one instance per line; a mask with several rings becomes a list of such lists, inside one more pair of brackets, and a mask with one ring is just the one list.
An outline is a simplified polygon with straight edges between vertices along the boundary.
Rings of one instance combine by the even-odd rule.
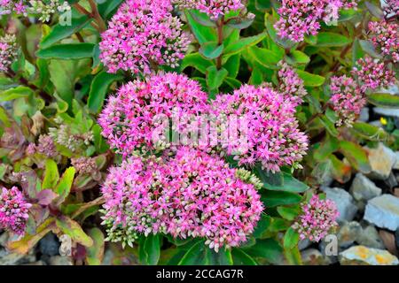
[[253, 184], [220, 157], [182, 147], [169, 157], [131, 157], [102, 187], [109, 241], [132, 245], [139, 233], [206, 238], [236, 247], [254, 232], [263, 206]]

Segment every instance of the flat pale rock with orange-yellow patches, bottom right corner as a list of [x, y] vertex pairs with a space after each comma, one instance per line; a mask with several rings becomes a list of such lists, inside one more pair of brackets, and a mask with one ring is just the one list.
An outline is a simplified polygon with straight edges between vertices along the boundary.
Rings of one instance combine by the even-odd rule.
[[354, 246], [340, 253], [343, 265], [397, 265], [399, 260], [385, 249]]

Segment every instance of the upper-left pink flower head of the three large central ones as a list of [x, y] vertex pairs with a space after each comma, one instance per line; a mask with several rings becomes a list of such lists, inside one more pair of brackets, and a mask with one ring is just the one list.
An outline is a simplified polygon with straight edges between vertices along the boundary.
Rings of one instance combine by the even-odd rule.
[[207, 112], [207, 94], [198, 82], [182, 74], [160, 73], [146, 81], [136, 80], [122, 86], [117, 96], [108, 99], [98, 124], [111, 147], [126, 157], [141, 148], [165, 146], [153, 142], [153, 138], [161, 137], [165, 130], [157, 117], [182, 118], [181, 124], [175, 125], [179, 131], [180, 128], [188, 130], [184, 127], [184, 118]]

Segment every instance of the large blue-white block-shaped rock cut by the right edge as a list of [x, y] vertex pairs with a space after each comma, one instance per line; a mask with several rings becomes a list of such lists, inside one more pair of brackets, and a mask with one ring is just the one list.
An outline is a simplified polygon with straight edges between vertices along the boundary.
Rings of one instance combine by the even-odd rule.
[[364, 220], [391, 231], [399, 229], [399, 198], [380, 195], [370, 200], [364, 211]]

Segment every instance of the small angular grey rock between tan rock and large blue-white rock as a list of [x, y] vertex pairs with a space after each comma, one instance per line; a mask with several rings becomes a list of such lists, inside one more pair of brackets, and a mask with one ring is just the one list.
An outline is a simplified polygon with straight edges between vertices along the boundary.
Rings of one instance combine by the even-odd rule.
[[364, 174], [357, 173], [349, 192], [353, 195], [356, 201], [368, 201], [373, 197], [381, 195], [382, 190], [375, 186], [375, 184], [364, 176]]

